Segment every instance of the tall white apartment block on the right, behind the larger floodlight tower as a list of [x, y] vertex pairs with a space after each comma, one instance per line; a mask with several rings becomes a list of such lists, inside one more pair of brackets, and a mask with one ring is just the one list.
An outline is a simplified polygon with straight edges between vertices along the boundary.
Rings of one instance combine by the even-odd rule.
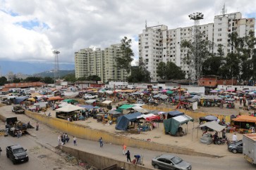
[[[159, 62], [171, 61], [181, 67], [188, 78], [189, 66], [183, 63], [187, 51], [181, 49], [181, 41], [193, 39], [194, 27], [183, 27], [168, 30], [166, 25], [146, 27], [139, 34], [139, 58], [145, 63], [152, 77], [151, 81], [158, 81], [157, 65]], [[217, 44], [224, 45], [224, 53], [231, 52], [228, 45], [228, 34], [238, 32], [239, 37], [245, 37], [250, 30], [255, 30], [255, 18], [242, 18], [241, 13], [229, 13], [214, 17], [214, 23], [199, 25], [202, 39], [214, 42], [213, 51], [217, 53]]]

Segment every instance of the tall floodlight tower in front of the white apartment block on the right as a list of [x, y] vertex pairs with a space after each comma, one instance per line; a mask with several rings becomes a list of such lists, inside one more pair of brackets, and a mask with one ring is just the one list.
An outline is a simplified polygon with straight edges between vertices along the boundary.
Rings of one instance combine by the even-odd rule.
[[193, 29], [193, 54], [190, 55], [190, 67], [189, 67], [189, 84], [197, 85], [198, 81], [202, 77], [202, 53], [200, 53], [200, 31], [198, 29], [199, 20], [204, 18], [202, 13], [193, 13], [188, 15], [190, 20], [194, 20]]

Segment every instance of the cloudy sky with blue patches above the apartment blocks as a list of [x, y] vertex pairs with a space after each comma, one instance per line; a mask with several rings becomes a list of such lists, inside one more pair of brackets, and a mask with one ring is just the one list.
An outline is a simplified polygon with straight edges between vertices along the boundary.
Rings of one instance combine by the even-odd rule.
[[214, 15], [241, 12], [256, 17], [253, 0], [0, 0], [1, 60], [54, 63], [52, 51], [60, 51], [59, 63], [74, 63], [82, 48], [106, 48], [132, 39], [138, 60], [138, 34], [147, 26], [188, 27], [188, 15], [204, 14], [200, 24]]

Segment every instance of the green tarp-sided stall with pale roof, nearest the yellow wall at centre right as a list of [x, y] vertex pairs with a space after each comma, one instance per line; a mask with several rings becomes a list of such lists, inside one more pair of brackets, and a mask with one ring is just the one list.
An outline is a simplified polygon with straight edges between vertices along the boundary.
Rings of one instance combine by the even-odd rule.
[[188, 121], [194, 121], [193, 118], [188, 115], [181, 115], [178, 117], [172, 117], [171, 119], [164, 120], [164, 131], [165, 133], [171, 133], [171, 135], [176, 135], [178, 127], [181, 124], [185, 124]]

